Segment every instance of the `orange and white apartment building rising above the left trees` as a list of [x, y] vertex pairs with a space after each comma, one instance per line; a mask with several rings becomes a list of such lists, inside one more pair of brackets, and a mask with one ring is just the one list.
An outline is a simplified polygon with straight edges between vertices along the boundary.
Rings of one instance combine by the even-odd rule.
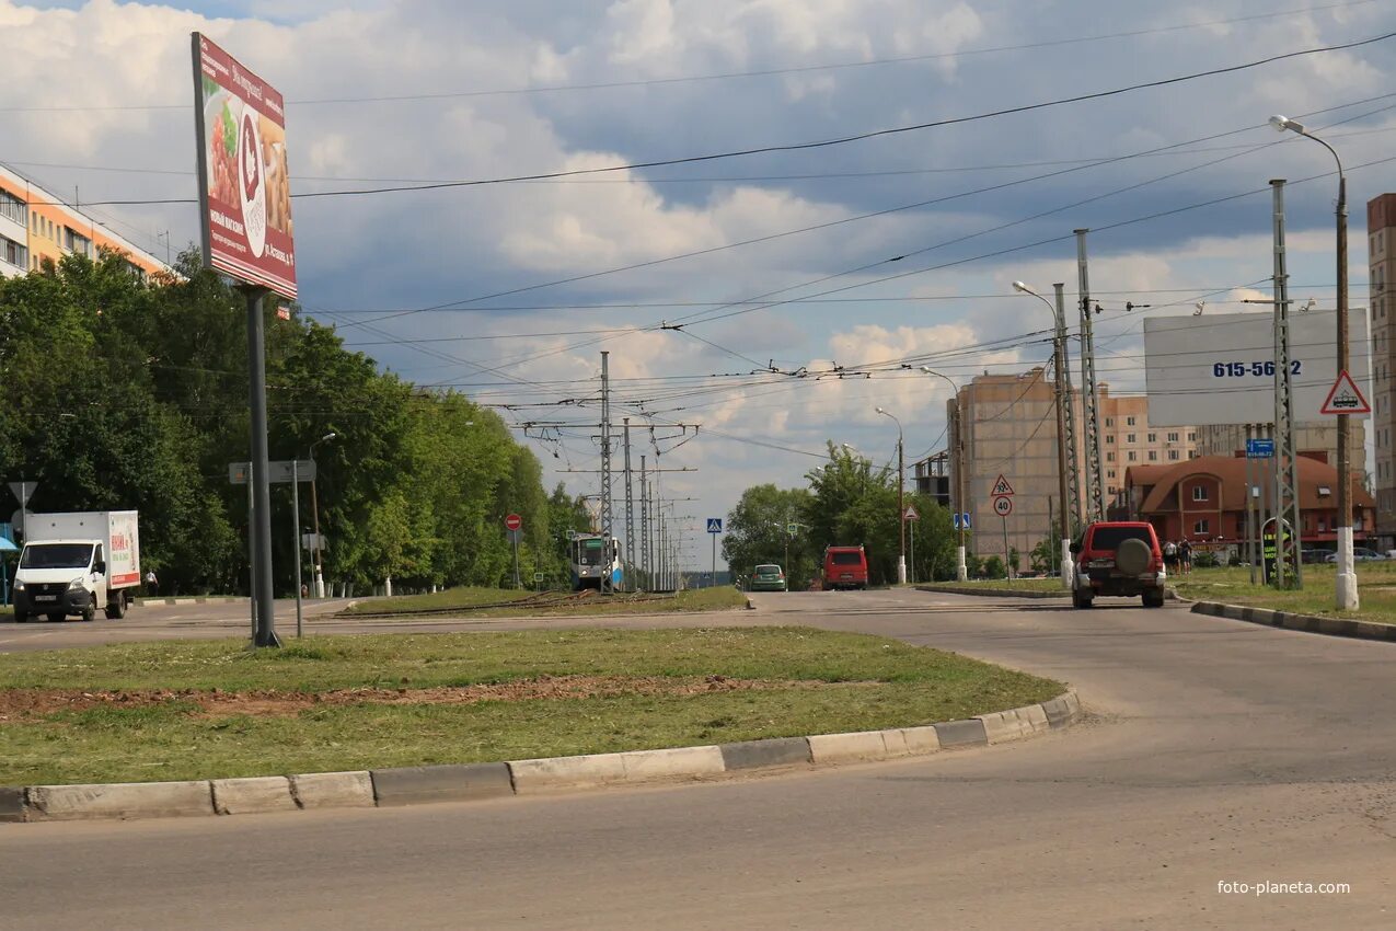
[[102, 250], [121, 253], [144, 275], [168, 269], [95, 218], [0, 166], [0, 275], [24, 275], [74, 253], [96, 258]]

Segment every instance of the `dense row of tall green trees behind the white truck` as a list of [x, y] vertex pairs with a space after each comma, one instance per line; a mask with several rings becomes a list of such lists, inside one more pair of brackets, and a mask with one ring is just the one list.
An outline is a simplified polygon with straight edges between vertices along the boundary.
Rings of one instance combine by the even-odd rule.
[[[591, 518], [561, 484], [547, 494], [497, 415], [380, 371], [300, 314], [265, 314], [271, 458], [336, 434], [315, 448], [327, 578], [510, 583], [508, 512], [525, 572], [565, 574], [567, 533]], [[161, 281], [114, 255], [0, 279], [0, 477], [38, 480], [32, 511], [138, 509], [142, 564], [166, 586], [247, 589], [247, 490], [228, 479], [248, 458], [247, 398], [246, 301], [197, 253]], [[281, 592], [290, 518], [289, 486], [272, 486]]]

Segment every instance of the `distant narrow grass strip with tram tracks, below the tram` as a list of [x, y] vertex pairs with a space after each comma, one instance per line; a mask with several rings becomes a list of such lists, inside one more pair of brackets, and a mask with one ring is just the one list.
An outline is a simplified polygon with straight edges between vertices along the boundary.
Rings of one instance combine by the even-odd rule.
[[472, 617], [547, 617], [600, 616], [600, 614], [653, 614], [660, 611], [722, 611], [744, 607], [745, 596], [730, 585], [704, 589], [685, 589], [677, 595], [656, 600], [653, 596], [634, 595], [589, 595], [579, 600], [561, 604], [521, 604], [518, 607], [477, 607], [518, 602], [535, 595], [484, 588], [455, 588], [431, 595], [410, 595], [405, 597], [378, 597], [357, 602], [345, 609], [345, 614], [410, 614], [422, 610], [461, 609]]

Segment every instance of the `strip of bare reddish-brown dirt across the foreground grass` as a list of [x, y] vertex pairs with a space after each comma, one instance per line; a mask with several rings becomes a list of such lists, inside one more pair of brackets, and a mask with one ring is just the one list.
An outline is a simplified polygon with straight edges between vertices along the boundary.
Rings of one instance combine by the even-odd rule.
[[463, 705], [535, 699], [613, 698], [618, 695], [702, 695], [771, 688], [819, 688], [818, 681], [768, 681], [706, 677], [544, 676], [512, 683], [433, 688], [341, 688], [324, 692], [276, 690], [225, 692], [219, 690], [84, 691], [13, 688], [0, 691], [0, 723], [22, 722], [66, 710], [92, 708], [137, 709], [183, 706], [208, 717], [235, 715], [286, 716], [309, 708], [335, 705]]

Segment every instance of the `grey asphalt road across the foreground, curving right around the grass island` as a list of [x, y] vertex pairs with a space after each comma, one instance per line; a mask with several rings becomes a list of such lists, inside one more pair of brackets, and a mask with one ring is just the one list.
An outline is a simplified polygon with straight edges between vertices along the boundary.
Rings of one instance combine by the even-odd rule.
[[[740, 782], [4, 825], [0, 927], [1396, 927], [1392, 645], [1106, 599], [757, 600], [727, 618], [1053, 676], [1090, 717], [1019, 744]], [[1350, 891], [1219, 892], [1261, 882]]]

